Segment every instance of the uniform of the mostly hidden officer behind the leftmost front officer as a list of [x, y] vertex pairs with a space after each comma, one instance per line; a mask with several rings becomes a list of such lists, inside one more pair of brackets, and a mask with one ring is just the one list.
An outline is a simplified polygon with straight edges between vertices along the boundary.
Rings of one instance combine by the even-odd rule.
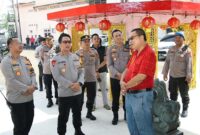
[[38, 69], [39, 69], [39, 90], [43, 91], [43, 81], [42, 81], [42, 76], [43, 76], [43, 68], [42, 68], [42, 63], [39, 58], [39, 53], [40, 50], [42, 49], [43, 45], [40, 45], [36, 47], [35, 49], [35, 58], [38, 60]]

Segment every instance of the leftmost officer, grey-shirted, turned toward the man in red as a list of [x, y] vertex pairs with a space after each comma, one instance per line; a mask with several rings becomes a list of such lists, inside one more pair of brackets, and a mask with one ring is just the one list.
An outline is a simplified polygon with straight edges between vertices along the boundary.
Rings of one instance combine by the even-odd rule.
[[6, 80], [7, 100], [14, 124], [14, 135], [28, 135], [34, 117], [33, 92], [37, 89], [30, 61], [20, 56], [23, 45], [17, 38], [7, 40], [9, 54], [1, 63]]

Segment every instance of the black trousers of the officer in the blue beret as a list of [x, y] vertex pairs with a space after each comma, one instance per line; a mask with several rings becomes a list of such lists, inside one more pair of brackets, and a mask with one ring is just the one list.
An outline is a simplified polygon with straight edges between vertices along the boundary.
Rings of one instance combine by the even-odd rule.
[[188, 109], [188, 104], [190, 101], [189, 98], [189, 85], [187, 81], [185, 81], [186, 77], [181, 78], [173, 78], [170, 77], [169, 79], [169, 92], [170, 92], [170, 99], [177, 101], [178, 98], [178, 90], [180, 92], [182, 103], [183, 103], [183, 110]]

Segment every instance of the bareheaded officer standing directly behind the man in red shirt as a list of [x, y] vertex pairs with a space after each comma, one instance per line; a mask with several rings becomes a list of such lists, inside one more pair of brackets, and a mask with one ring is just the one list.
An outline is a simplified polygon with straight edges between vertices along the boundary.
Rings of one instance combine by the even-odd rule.
[[[130, 58], [129, 49], [125, 48], [123, 43], [122, 32], [118, 29], [112, 31], [112, 38], [114, 45], [108, 48], [107, 51], [107, 65], [110, 72], [110, 83], [112, 93], [112, 111], [113, 120], [112, 124], [117, 125], [118, 123], [118, 110], [119, 110], [119, 99], [120, 99], [120, 79], [123, 71], [126, 68], [126, 64]], [[125, 98], [123, 96], [123, 108]], [[124, 113], [124, 119], [126, 119]]]

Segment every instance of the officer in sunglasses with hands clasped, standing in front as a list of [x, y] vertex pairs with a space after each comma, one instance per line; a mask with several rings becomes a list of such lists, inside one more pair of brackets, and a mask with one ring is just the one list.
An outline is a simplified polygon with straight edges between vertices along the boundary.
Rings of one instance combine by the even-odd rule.
[[75, 135], [84, 135], [81, 131], [81, 86], [84, 83], [84, 70], [80, 65], [79, 57], [70, 52], [71, 42], [70, 35], [62, 33], [59, 37], [61, 52], [51, 60], [51, 71], [58, 82], [57, 132], [59, 135], [65, 135], [66, 123], [72, 109]]

